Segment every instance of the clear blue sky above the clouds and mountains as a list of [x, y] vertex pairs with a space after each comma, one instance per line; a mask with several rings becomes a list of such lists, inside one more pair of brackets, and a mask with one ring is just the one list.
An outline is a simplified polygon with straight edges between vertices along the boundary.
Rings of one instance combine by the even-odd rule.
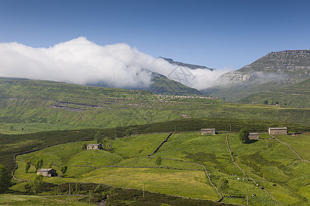
[[310, 49], [310, 1], [0, 1], [0, 43], [98, 45], [221, 69], [269, 52]]

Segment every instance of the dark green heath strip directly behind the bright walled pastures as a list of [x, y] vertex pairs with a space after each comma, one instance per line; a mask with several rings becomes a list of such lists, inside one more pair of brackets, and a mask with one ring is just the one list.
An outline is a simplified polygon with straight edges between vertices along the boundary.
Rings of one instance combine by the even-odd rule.
[[[231, 128], [231, 131], [238, 132], [241, 128], [247, 127], [249, 130], [266, 132], [268, 126], [287, 126], [289, 132], [309, 130], [309, 126], [300, 126], [287, 122], [254, 119], [203, 118], [180, 119], [170, 122], [158, 122], [136, 126], [120, 126], [118, 128], [100, 129], [100, 131], [104, 133], [105, 137], [116, 138], [145, 133], [198, 131], [200, 128], [216, 128], [218, 131], [229, 131]], [[99, 129], [53, 130], [40, 133], [23, 133], [20, 135], [0, 135], [0, 163], [12, 170], [15, 166], [12, 161], [14, 154], [54, 144], [92, 140], [98, 131]]]

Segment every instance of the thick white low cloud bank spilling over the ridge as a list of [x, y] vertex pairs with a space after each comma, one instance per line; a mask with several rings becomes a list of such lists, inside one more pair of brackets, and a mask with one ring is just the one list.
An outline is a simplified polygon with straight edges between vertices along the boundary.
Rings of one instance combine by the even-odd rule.
[[231, 69], [188, 69], [143, 54], [125, 43], [100, 46], [79, 37], [49, 48], [0, 43], [0, 76], [74, 84], [147, 89], [154, 71], [189, 87], [205, 89]]

